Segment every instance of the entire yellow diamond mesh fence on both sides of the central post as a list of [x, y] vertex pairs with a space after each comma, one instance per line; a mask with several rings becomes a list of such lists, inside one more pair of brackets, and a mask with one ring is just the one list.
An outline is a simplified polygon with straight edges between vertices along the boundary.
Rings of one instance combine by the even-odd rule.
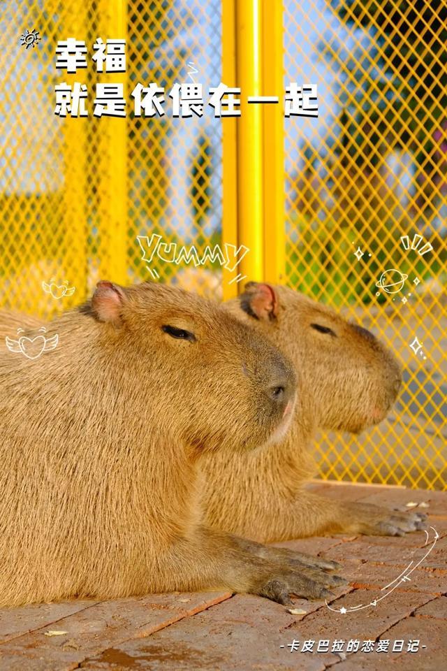
[[[237, 67], [247, 59], [237, 25], [242, 37], [237, 49], [233, 44], [234, 22], [249, 15], [242, 1], [0, 2], [2, 305], [48, 317], [84, 300], [100, 278], [151, 279], [136, 238], [152, 235], [160, 236], [165, 257], [156, 259], [152, 279], [222, 295], [218, 261], [207, 268], [172, 261], [182, 247], [194, 245], [200, 255], [217, 243], [244, 243], [249, 208], [237, 209], [244, 182], [235, 185], [232, 166], [241, 159], [244, 145], [237, 143], [247, 124], [242, 129], [240, 120], [210, 114], [174, 118], [170, 105], [159, 118], [135, 117], [131, 92], [138, 82], [156, 82], [168, 101], [175, 82], [200, 82], [204, 92], [225, 78], [238, 85], [247, 73]], [[272, 6], [256, 3], [271, 87], [271, 56], [281, 44], [269, 38]], [[270, 257], [280, 266], [285, 255], [288, 284], [371, 327], [404, 364], [393, 417], [362, 438], [322, 436], [321, 472], [444, 487], [445, 4], [284, 0], [283, 9], [284, 81], [316, 83], [319, 116], [284, 121], [286, 246], [274, 235], [284, 225], [270, 216], [278, 210], [270, 209], [263, 226], [279, 241]], [[21, 36], [31, 30], [40, 41], [27, 48]], [[57, 43], [68, 37], [87, 46], [88, 66], [73, 74], [56, 67]], [[126, 39], [125, 73], [97, 71], [97, 38]], [[61, 82], [87, 85], [89, 117], [54, 115]], [[92, 115], [101, 82], [123, 84], [125, 119]], [[269, 123], [262, 132], [271, 150]], [[243, 158], [249, 170], [250, 157]], [[258, 167], [257, 178], [268, 182], [268, 171]], [[274, 164], [267, 167], [272, 175]], [[265, 194], [270, 189], [264, 183]], [[237, 231], [228, 221], [241, 211], [245, 228]], [[41, 289], [42, 282], [65, 281], [75, 293], [64, 303]], [[414, 338], [422, 343], [417, 354]]]

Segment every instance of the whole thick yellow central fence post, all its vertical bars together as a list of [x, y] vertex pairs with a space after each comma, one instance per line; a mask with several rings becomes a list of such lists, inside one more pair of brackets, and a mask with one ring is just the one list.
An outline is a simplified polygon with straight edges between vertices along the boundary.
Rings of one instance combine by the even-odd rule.
[[[284, 280], [284, 117], [281, 106], [247, 96], [283, 87], [282, 2], [223, 0], [223, 81], [241, 89], [241, 116], [224, 120], [223, 240], [249, 248], [240, 264], [247, 280]], [[281, 222], [281, 225], [279, 225]], [[224, 298], [242, 289], [229, 287]]]

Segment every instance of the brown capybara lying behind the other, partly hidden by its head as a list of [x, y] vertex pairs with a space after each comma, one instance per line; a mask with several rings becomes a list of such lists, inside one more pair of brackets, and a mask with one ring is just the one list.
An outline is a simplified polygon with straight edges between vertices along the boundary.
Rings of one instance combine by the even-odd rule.
[[293, 362], [298, 401], [291, 431], [275, 445], [246, 454], [205, 456], [207, 522], [260, 542], [324, 533], [402, 535], [425, 515], [328, 500], [309, 492], [317, 429], [358, 433], [393, 405], [401, 373], [372, 333], [287, 287], [247, 284], [225, 303]]

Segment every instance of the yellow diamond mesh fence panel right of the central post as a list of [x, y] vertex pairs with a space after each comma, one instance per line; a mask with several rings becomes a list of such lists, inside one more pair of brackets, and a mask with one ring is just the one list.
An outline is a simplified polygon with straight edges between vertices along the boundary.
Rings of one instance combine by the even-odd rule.
[[320, 103], [318, 120], [286, 124], [287, 281], [404, 366], [393, 417], [364, 437], [321, 436], [324, 477], [447, 484], [445, 8], [285, 3], [285, 79], [318, 82]]

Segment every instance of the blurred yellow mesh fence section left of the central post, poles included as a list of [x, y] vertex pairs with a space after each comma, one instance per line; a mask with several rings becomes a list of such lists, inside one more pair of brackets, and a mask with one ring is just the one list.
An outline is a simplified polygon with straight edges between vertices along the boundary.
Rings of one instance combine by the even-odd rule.
[[[150, 279], [137, 236], [160, 235], [177, 252], [193, 244], [199, 256], [220, 243], [220, 124], [205, 114], [173, 118], [168, 105], [160, 118], [130, 113], [138, 82], [165, 87], [166, 101], [174, 82], [196, 80], [204, 91], [217, 85], [219, 0], [17, 0], [0, 7], [2, 305], [49, 317], [85, 300], [101, 278]], [[32, 30], [40, 41], [22, 44]], [[87, 46], [87, 68], [74, 74], [56, 67], [57, 44], [69, 37]], [[126, 39], [126, 73], [97, 71], [97, 38]], [[87, 118], [54, 115], [61, 82], [87, 85]], [[94, 117], [98, 82], [122, 82], [124, 119]], [[219, 293], [219, 278], [200, 270], [157, 258], [156, 278], [181, 277], [186, 288]], [[43, 293], [42, 282], [53, 279], [74, 286], [73, 296], [62, 303]]]

